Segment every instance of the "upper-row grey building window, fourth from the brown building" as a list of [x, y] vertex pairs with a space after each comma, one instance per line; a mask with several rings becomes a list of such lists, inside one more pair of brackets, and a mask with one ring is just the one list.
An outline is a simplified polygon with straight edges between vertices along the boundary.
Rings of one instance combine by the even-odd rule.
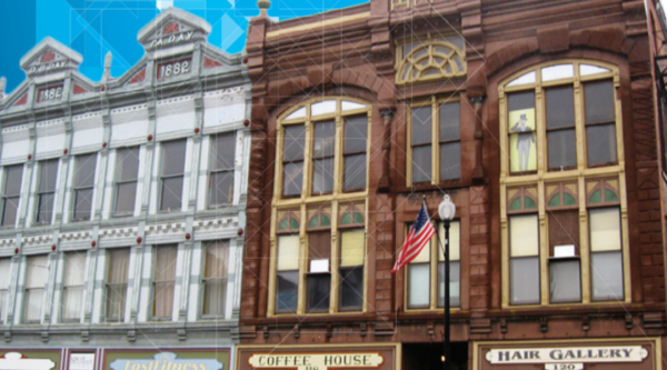
[[74, 199], [72, 207], [73, 221], [90, 220], [96, 167], [97, 153], [77, 156]]

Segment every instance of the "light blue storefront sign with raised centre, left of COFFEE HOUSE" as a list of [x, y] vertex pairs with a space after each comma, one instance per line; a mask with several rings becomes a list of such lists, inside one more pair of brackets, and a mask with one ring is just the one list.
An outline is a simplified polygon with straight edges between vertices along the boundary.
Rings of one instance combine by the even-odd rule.
[[152, 359], [119, 359], [109, 366], [113, 370], [223, 370], [216, 359], [180, 359], [171, 352], [155, 354]]

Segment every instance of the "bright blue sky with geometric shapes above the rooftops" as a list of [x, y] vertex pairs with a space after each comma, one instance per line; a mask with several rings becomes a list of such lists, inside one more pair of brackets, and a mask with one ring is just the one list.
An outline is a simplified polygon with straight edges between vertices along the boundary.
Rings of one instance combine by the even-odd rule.
[[[83, 56], [81, 73], [99, 81], [104, 54], [113, 53], [118, 77], [143, 56], [137, 32], [168, 6], [190, 11], [211, 26], [209, 42], [236, 53], [246, 46], [248, 19], [258, 14], [256, 0], [0, 0], [2, 58], [0, 76], [7, 92], [26, 74], [19, 60], [47, 36]], [[269, 16], [279, 20], [347, 8], [367, 0], [272, 0]]]

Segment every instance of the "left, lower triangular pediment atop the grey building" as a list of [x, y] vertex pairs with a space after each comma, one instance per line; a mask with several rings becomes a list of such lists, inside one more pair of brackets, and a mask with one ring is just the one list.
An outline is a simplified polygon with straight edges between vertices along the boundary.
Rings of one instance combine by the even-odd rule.
[[21, 69], [28, 77], [77, 70], [83, 57], [54, 39], [47, 37], [21, 58]]

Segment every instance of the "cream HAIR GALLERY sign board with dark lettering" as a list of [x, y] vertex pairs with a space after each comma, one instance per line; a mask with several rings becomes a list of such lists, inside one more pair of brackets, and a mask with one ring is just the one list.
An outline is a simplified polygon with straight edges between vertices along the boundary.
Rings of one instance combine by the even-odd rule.
[[[492, 349], [487, 361], [496, 363], [641, 362], [648, 351], [641, 346], [590, 348]], [[560, 368], [558, 368], [560, 369]], [[567, 369], [569, 370], [569, 369]]]

